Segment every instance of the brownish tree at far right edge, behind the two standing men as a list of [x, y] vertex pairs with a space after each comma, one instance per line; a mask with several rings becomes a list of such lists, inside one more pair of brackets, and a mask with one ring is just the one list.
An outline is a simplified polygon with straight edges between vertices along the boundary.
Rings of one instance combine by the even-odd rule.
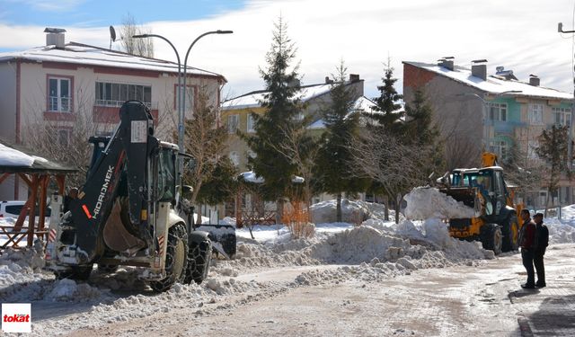
[[[562, 173], [571, 179], [571, 170], [567, 164], [567, 146], [569, 143], [569, 127], [554, 126], [543, 130], [539, 136], [539, 146], [535, 148], [537, 154], [549, 167], [547, 181], [547, 198], [555, 194], [559, 188]], [[545, 202], [545, 217], [547, 216], [547, 202]]]

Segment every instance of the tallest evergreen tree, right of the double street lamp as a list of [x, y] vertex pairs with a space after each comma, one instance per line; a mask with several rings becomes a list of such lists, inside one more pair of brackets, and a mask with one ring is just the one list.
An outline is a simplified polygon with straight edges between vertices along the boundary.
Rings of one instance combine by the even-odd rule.
[[[266, 55], [268, 67], [260, 69], [266, 84], [261, 106], [263, 115], [254, 116], [254, 135], [243, 135], [243, 139], [255, 153], [249, 164], [258, 176], [265, 180], [262, 186], [266, 200], [277, 200], [288, 195], [296, 164], [280, 149], [285, 148], [286, 136], [292, 134], [302, 104], [296, 94], [300, 90], [297, 68], [290, 69], [296, 58], [294, 43], [287, 35], [287, 25], [279, 18], [275, 24], [271, 49]], [[281, 203], [279, 205], [281, 208]], [[280, 209], [281, 210], [281, 209]]]

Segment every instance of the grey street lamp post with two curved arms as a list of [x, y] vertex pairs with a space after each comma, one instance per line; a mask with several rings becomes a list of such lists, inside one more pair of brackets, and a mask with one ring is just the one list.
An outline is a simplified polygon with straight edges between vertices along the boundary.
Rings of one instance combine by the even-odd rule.
[[[176, 58], [178, 60], [178, 93], [176, 95], [176, 101], [178, 102], [178, 147], [180, 148], [180, 153], [185, 153], [185, 148], [184, 148], [184, 120], [185, 120], [185, 105], [186, 105], [186, 70], [188, 67], [188, 56], [190, 55], [190, 50], [191, 48], [194, 46], [194, 44], [196, 44], [196, 42], [203, 38], [206, 35], [209, 34], [231, 34], [234, 31], [207, 31], [201, 35], [199, 35], [199, 37], [196, 38], [196, 40], [193, 40], [193, 42], [191, 42], [190, 44], [190, 48], [188, 48], [188, 52], [186, 52], [186, 58], [184, 58], [184, 66], [183, 66], [183, 95], [182, 95], [182, 90], [181, 90], [181, 61], [180, 61], [180, 54], [178, 54], [178, 50], [173, 46], [173, 43], [164, 38], [162, 35], [157, 35], [157, 34], [139, 34], [139, 35], [134, 35], [132, 36], [132, 38], [135, 39], [144, 39], [144, 38], [159, 38], [162, 39], [166, 42], [168, 42], [170, 44], [170, 46], [172, 47], [173, 51], [176, 53]], [[177, 184], [180, 186], [180, 190], [181, 190], [181, 176], [183, 174], [183, 161], [179, 160], [179, 164], [178, 164], [178, 172], [177, 172], [177, 177], [176, 177], [176, 182]], [[180, 191], [181, 192], [181, 191]], [[181, 195], [181, 193], [180, 193]]]

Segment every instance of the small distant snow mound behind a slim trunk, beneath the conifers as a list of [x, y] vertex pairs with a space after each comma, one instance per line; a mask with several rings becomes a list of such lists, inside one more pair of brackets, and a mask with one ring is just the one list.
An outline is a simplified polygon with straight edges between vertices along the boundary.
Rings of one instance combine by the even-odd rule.
[[[309, 208], [312, 214], [312, 222], [314, 224], [336, 222], [336, 208], [336, 200], [322, 201], [312, 205]], [[350, 224], [361, 224], [368, 217], [370, 217], [370, 212], [365, 203], [347, 199], [341, 200], [341, 221]]]

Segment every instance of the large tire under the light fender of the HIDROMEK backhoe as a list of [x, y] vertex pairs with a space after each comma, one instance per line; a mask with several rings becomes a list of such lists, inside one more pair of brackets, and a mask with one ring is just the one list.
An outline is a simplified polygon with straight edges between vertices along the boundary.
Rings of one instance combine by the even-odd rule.
[[176, 282], [183, 282], [188, 268], [188, 235], [183, 224], [177, 224], [168, 230], [168, 245], [165, 255], [165, 278], [150, 282], [157, 292], [172, 288]]

